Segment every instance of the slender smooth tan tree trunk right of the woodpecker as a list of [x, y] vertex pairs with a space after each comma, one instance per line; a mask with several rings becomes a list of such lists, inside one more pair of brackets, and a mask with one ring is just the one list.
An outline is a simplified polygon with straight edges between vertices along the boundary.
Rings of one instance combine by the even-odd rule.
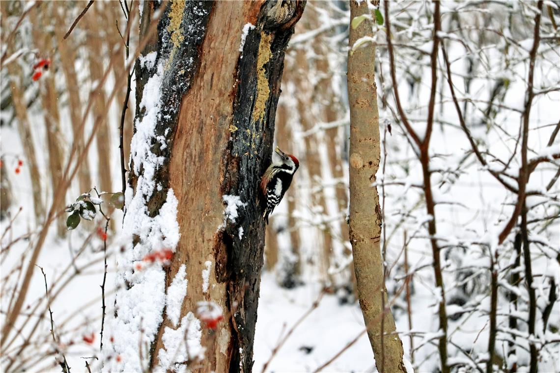
[[[381, 259], [381, 224], [375, 173], [379, 168], [379, 112], [375, 85], [375, 48], [366, 43], [352, 51], [361, 37], [373, 36], [371, 20], [355, 29], [352, 20], [375, 15], [368, 3], [350, 2], [351, 26], [348, 51], [348, 101], [350, 105], [350, 242], [354, 256], [356, 285], [363, 319], [375, 355], [377, 370], [405, 372], [403, 344], [395, 333], [395, 322], [387, 301]], [[380, 338], [380, 336], [382, 336]]]

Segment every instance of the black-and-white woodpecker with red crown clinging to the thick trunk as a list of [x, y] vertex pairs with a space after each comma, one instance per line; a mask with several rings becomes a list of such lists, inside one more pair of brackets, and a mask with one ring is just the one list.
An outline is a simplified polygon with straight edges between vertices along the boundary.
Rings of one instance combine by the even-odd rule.
[[276, 153], [280, 155], [281, 161], [274, 162], [268, 166], [260, 180], [260, 188], [267, 197], [267, 207], [264, 209], [263, 219], [268, 224], [268, 215], [272, 214], [274, 207], [278, 206], [284, 193], [292, 183], [293, 174], [300, 167], [300, 161], [292, 154], [286, 154], [276, 147]]

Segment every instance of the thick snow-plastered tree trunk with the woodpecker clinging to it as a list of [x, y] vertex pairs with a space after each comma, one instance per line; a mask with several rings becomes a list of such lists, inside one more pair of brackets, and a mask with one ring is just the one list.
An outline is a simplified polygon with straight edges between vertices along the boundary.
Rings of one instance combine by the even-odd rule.
[[[136, 64], [124, 220], [133, 243], [119, 258], [105, 369], [251, 371], [265, 232], [258, 184], [270, 164], [284, 50], [304, 6], [177, 1], [158, 21]], [[144, 3], [141, 40], [157, 7]], [[226, 215], [225, 201], [237, 201], [237, 216], [234, 202]], [[162, 248], [175, 251], [169, 267], [142, 260]], [[216, 330], [195, 318], [200, 301], [222, 308]]]

